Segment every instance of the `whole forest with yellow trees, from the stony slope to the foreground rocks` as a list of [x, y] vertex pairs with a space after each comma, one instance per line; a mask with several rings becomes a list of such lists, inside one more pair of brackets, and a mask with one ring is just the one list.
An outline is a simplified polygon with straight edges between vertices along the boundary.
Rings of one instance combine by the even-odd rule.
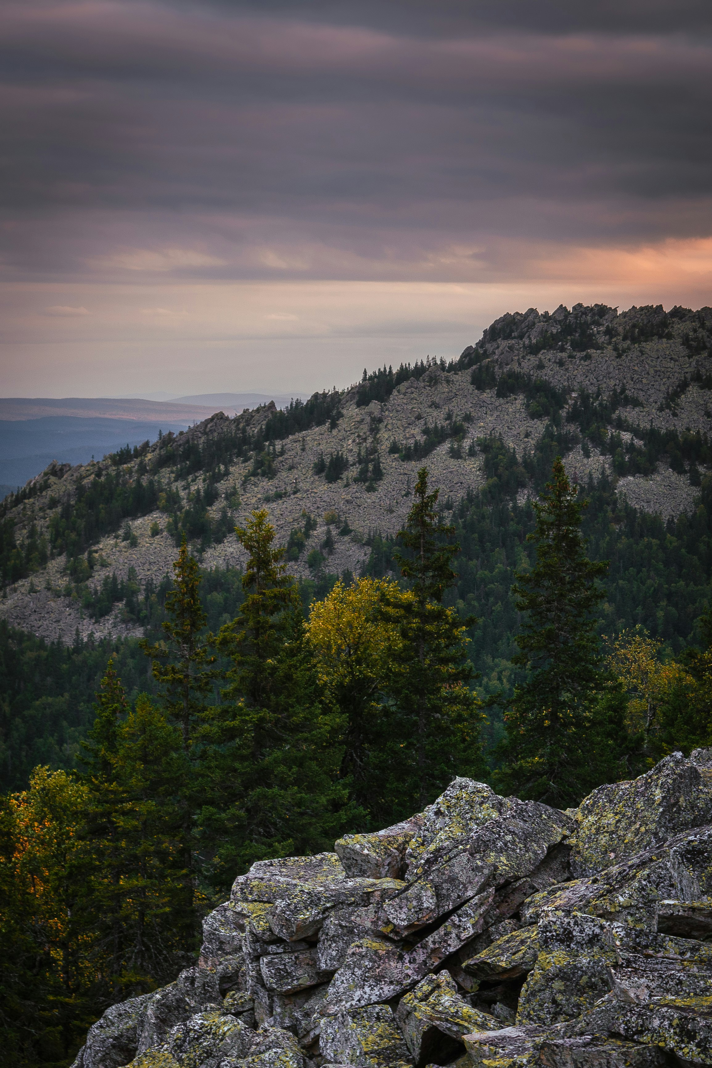
[[522, 505], [496, 439], [456, 508], [421, 469], [361, 578], [297, 583], [260, 509], [243, 572], [202, 571], [184, 536], [138, 643], [3, 628], [14, 1063], [69, 1064], [107, 1005], [170, 981], [256, 860], [394, 823], [455, 775], [566, 807], [709, 744], [710, 480], [665, 527], [544, 447]]

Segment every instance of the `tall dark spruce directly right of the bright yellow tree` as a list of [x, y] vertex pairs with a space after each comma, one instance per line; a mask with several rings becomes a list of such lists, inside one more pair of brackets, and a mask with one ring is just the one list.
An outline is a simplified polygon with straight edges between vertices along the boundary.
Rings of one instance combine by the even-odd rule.
[[454, 531], [437, 511], [439, 492], [428, 492], [428, 471], [421, 468], [413, 506], [398, 533], [409, 552], [394, 552], [410, 596], [385, 610], [400, 637], [390, 692], [399, 722], [391, 758], [408, 759], [405, 778], [396, 774], [393, 782], [397, 794], [391, 803], [394, 816], [401, 818], [413, 804], [424, 807], [454, 775], [486, 773], [480, 740], [485, 717], [468, 685], [474, 673], [465, 630], [476, 621], [461, 621], [442, 603], [457, 578], [452, 562], [459, 546], [447, 544]]

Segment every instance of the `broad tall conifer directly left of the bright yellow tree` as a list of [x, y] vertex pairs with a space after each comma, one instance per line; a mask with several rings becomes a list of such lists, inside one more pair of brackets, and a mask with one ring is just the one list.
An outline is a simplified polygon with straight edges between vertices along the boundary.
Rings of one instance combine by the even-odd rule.
[[233, 665], [224, 703], [206, 716], [211, 803], [202, 827], [219, 886], [255, 860], [329, 848], [344, 824], [339, 722], [319, 705], [298, 591], [267, 518], [253, 512], [237, 531], [250, 553], [246, 598], [220, 631], [219, 647]]

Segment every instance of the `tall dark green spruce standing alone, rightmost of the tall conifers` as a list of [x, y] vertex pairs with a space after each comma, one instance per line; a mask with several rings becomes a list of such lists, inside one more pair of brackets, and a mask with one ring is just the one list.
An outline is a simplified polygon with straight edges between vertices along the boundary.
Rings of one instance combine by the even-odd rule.
[[585, 555], [579, 500], [560, 457], [535, 502], [536, 545], [529, 571], [517, 572], [512, 593], [525, 613], [512, 663], [528, 678], [515, 688], [505, 713], [497, 785], [522, 798], [565, 807], [615, 778], [616, 761], [600, 698], [606, 676], [597, 635], [605, 593], [598, 580], [607, 563]]

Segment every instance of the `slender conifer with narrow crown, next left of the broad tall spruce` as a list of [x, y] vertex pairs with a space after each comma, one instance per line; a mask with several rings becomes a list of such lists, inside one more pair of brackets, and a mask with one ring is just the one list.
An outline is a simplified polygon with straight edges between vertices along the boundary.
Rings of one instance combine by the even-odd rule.
[[170, 618], [163, 623], [168, 641], [154, 645], [141, 642], [146, 656], [153, 659], [154, 678], [162, 686], [161, 703], [169, 720], [180, 731], [184, 754], [181, 784], [183, 868], [186, 911], [194, 914], [194, 933], [197, 934], [195, 898], [196, 873], [193, 862], [192, 835], [194, 814], [200, 800], [196, 798], [195, 763], [199, 757], [197, 735], [201, 718], [205, 712], [208, 694], [212, 693], [216, 670], [210, 654], [210, 637], [203, 637], [207, 616], [200, 598], [200, 570], [197, 562], [188, 552], [186, 537], [180, 543], [178, 559], [173, 564], [175, 590], [165, 598]]

